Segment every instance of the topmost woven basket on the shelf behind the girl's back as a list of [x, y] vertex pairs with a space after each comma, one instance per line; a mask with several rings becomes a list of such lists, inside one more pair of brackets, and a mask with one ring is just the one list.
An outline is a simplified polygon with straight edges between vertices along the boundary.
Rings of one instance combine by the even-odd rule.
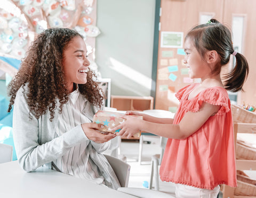
[[242, 107], [231, 105], [234, 123], [256, 123], [256, 114]]

